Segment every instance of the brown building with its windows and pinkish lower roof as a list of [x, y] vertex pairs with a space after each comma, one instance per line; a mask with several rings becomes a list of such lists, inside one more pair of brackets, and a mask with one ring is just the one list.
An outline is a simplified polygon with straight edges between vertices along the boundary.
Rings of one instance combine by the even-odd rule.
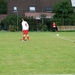
[[[53, 16], [53, 5], [61, 0], [7, 0], [8, 3], [8, 15], [16, 14], [21, 16], [37, 16], [41, 13], [47, 15], [47, 17]], [[50, 13], [50, 14], [49, 14]], [[35, 14], [35, 15], [34, 15]], [[37, 15], [38, 14], [38, 15]]]

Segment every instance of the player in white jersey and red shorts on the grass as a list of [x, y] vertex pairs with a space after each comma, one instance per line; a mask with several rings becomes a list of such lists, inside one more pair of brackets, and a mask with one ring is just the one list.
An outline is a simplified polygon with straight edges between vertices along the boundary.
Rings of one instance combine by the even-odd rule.
[[23, 37], [22, 37], [22, 41], [26, 41], [30, 39], [29, 35], [28, 35], [28, 30], [29, 30], [29, 24], [24, 20], [24, 18], [22, 18], [22, 32], [23, 32]]

